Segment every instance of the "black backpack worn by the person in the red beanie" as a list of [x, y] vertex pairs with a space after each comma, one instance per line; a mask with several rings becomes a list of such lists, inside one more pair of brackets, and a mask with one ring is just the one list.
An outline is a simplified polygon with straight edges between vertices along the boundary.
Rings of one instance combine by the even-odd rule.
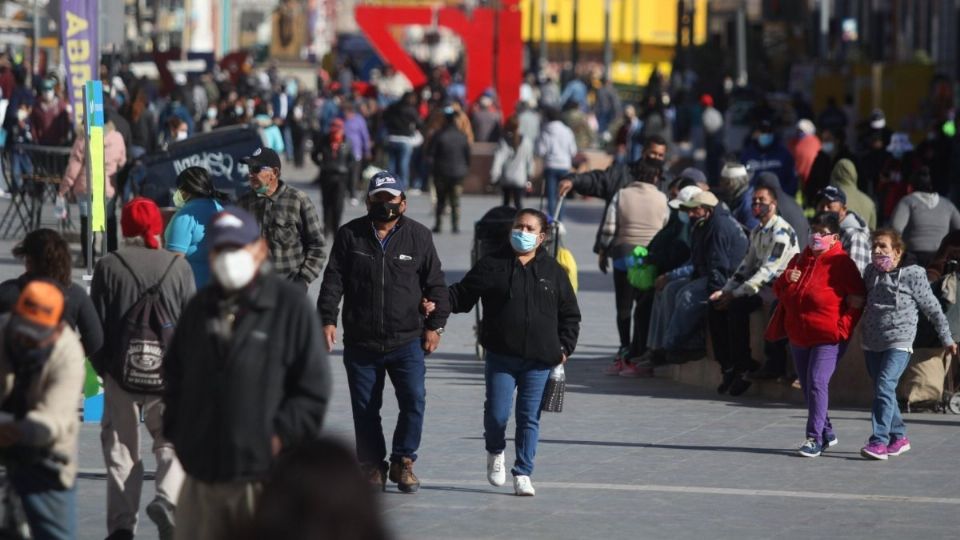
[[163, 354], [173, 339], [176, 326], [170, 310], [162, 302], [160, 287], [177, 262], [174, 257], [156, 285], [146, 288], [133, 268], [114, 253], [133, 276], [142, 291], [140, 299], [123, 316], [120, 330], [120, 376], [117, 381], [128, 392], [159, 394], [163, 392]]

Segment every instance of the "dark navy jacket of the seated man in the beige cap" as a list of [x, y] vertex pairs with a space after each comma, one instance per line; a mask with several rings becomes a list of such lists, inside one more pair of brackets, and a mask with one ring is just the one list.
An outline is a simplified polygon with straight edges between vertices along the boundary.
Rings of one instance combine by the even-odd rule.
[[707, 292], [723, 289], [747, 252], [747, 236], [722, 206], [694, 226], [691, 262], [694, 279], [707, 278]]

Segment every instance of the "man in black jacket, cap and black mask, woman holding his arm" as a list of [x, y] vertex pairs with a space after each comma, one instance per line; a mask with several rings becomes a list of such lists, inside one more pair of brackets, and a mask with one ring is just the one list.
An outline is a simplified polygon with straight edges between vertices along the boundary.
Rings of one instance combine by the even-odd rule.
[[[343, 363], [347, 369], [357, 455], [370, 481], [386, 484], [380, 406], [384, 375], [396, 389], [400, 415], [393, 434], [390, 480], [413, 493], [425, 407], [424, 353], [436, 350], [450, 312], [446, 283], [430, 230], [404, 217], [400, 180], [382, 171], [370, 179], [367, 216], [340, 228], [323, 275], [317, 310], [327, 350], [336, 342], [343, 299]], [[424, 319], [421, 298], [436, 303]]]

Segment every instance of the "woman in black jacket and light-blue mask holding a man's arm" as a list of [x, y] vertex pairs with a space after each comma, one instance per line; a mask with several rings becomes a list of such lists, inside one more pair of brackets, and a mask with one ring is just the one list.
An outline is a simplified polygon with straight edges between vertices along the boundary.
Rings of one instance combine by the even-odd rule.
[[566, 271], [541, 249], [547, 218], [536, 210], [517, 213], [512, 249], [488, 255], [450, 286], [451, 311], [466, 313], [483, 302], [480, 343], [486, 349], [483, 426], [487, 480], [506, 482], [504, 438], [517, 392], [517, 495], [533, 495], [530, 474], [540, 431], [540, 402], [550, 369], [567, 361], [580, 333], [580, 308]]

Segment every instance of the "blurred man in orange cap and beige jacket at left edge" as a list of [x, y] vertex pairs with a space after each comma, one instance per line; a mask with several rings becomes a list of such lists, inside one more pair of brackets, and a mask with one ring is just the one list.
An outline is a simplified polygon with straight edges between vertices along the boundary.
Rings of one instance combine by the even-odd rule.
[[57, 284], [32, 281], [0, 318], [0, 461], [34, 538], [76, 538], [84, 354], [63, 305]]

